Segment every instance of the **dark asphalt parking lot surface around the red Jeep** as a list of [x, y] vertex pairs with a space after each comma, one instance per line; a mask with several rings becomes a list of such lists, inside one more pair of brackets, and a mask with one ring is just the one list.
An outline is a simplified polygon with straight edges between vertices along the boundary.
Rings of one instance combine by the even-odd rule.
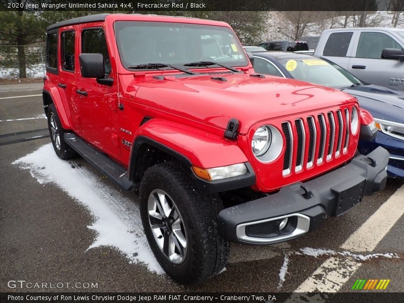
[[[309, 291], [308, 287], [329, 287], [331, 273], [336, 275], [331, 283], [336, 291], [352, 291], [357, 279], [390, 279], [384, 291], [404, 291], [401, 180], [388, 180], [385, 190], [365, 197], [347, 214], [329, 218], [321, 229], [299, 239], [268, 246], [233, 244], [226, 270], [196, 287], [181, 286], [147, 264], [133, 261], [136, 256], [129, 258], [124, 245], [93, 245], [98, 232], [89, 228], [97, 222], [94, 209], [52, 180], [54, 175], [38, 177], [35, 170], [13, 164], [50, 142], [41, 87], [41, 83], [0, 85], [0, 292]], [[56, 155], [43, 157], [51, 163]], [[70, 165], [71, 171], [63, 171], [66, 178], [80, 170], [99, 188], [107, 188], [107, 195], [116, 190], [115, 214], [125, 216], [125, 210], [132, 208], [136, 212], [133, 192], [120, 192], [81, 158]], [[357, 251], [356, 239], [358, 243], [365, 239], [369, 249]], [[60, 282], [63, 287], [10, 284], [17, 280]], [[323, 286], [313, 286], [313, 281]]]

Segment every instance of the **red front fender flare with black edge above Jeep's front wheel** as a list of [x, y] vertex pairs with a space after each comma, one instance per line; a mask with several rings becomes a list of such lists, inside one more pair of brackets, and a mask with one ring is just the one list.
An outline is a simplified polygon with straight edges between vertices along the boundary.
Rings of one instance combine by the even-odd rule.
[[[195, 184], [207, 192], [227, 191], [256, 183], [254, 170], [235, 143], [178, 123], [152, 119], [136, 132], [128, 167], [129, 180], [135, 184], [140, 182], [147, 168], [163, 161], [179, 162]], [[196, 177], [191, 169], [193, 165], [213, 168], [237, 163], [247, 166], [245, 176], [207, 181]]]

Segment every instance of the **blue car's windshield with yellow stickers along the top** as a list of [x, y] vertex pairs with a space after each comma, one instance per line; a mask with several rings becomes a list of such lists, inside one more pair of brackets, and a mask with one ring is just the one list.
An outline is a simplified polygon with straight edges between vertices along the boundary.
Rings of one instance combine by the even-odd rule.
[[281, 59], [279, 62], [294, 79], [333, 88], [361, 84], [359, 79], [343, 71], [339, 66], [333, 66], [322, 59]]

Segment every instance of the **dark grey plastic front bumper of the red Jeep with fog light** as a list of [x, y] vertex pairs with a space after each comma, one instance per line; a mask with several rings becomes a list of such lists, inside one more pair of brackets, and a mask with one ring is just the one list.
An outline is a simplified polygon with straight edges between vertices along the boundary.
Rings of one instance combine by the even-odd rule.
[[[340, 216], [363, 195], [384, 189], [389, 153], [382, 147], [334, 171], [219, 213], [219, 232], [228, 241], [273, 244], [319, 228], [327, 216]], [[283, 221], [286, 226], [280, 230]]]

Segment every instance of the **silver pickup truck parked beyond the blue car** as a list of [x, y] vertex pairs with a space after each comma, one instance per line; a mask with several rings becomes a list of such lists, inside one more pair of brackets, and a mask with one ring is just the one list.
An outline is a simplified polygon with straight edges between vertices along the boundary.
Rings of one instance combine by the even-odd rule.
[[327, 29], [314, 55], [327, 58], [368, 83], [404, 90], [404, 29]]

